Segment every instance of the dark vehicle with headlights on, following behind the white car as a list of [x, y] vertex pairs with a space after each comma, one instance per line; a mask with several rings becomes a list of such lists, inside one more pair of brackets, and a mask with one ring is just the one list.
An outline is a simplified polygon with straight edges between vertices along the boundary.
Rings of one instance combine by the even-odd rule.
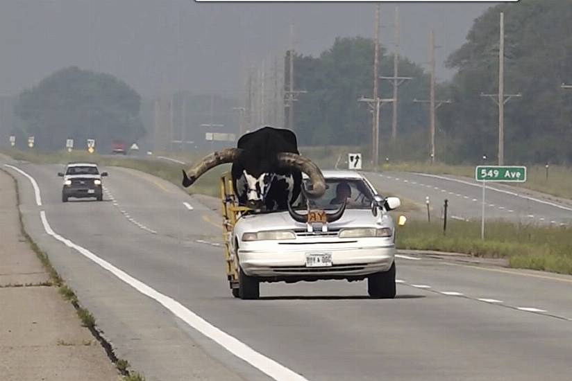
[[68, 163], [64, 173], [58, 172], [58, 176], [64, 178], [62, 202], [67, 202], [69, 197], [95, 197], [97, 201], [102, 201], [101, 177], [107, 175], [107, 172], [99, 173], [95, 163]]

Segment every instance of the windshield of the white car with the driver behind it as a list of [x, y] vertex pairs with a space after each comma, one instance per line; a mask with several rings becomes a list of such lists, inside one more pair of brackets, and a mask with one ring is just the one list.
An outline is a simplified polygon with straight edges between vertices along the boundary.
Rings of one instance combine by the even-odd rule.
[[[304, 181], [308, 187], [308, 180]], [[346, 209], [369, 209], [373, 193], [362, 179], [326, 179], [326, 193], [322, 197], [310, 200], [312, 209], [339, 209], [347, 200]], [[301, 195], [294, 209], [306, 209], [305, 197]]]

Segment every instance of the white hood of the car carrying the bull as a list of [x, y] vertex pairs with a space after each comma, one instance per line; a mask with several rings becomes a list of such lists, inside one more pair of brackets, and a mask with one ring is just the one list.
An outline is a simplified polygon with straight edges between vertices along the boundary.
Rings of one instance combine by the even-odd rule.
[[[328, 227], [330, 229], [369, 227], [378, 224], [378, 220], [369, 209], [346, 209], [342, 218], [328, 224]], [[382, 225], [391, 224], [391, 222], [392, 218], [389, 215], [383, 215]], [[288, 212], [246, 215], [240, 218], [236, 224], [236, 228], [241, 231], [304, 229], [305, 227], [306, 224], [292, 220]]]

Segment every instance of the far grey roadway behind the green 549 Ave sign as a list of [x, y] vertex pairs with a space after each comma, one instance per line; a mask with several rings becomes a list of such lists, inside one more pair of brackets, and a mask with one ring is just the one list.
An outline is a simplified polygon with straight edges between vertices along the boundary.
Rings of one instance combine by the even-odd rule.
[[[405, 197], [422, 208], [429, 197], [436, 216], [442, 215], [448, 200], [448, 215], [457, 220], [480, 220], [482, 183], [462, 177], [425, 175], [410, 172], [367, 174], [385, 193]], [[487, 184], [485, 218], [534, 224], [572, 224], [572, 202], [555, 200], [541, 193], [507, 184]]]

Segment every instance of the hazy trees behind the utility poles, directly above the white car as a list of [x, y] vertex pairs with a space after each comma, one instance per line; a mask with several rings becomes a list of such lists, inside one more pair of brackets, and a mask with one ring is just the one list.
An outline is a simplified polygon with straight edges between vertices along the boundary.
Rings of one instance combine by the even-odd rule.
[[[338, 37], [319, 57], [295, 56], [295, 83], [308, 94], [299, 96], [294, 113], [296, 134], [301, 145], [364, 145], [371, 141], [371, 114], [362, 96], [373, 91], [373, 40], [364, 37]], [[393, 57], [380, 49], [380, 75], [392, 76]], [[426, 111], [412, 100], [428, 93], [428, 77], [419, 65], [400, 59], [400, 74], [414, 81], [400, 88], [398, 110], [400, 141], [416, 140], [426, 134]], [[389, 82], [380, 80], [380, 96], [392, 97]], [[382, 152], [397, 150], [389, 143], [392, 111], [381, 112]]]

